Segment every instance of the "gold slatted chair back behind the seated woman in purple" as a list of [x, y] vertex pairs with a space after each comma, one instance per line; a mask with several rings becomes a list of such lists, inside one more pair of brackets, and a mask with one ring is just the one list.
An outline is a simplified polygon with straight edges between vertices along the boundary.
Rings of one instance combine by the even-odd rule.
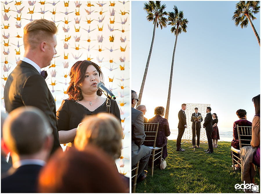
[[156, 146], [157, 134], [160, 123], [144, 123], [145, 140], [144, 145]]

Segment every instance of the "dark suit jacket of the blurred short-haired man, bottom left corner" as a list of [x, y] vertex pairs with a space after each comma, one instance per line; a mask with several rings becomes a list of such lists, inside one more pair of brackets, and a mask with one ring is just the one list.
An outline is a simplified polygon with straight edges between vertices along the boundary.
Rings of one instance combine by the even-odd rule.
[[41, 168], [40, 165], [23, 165], [17, 169], [11, 167], [5, 176], [1, 175], [1, 193], [37, 193]]

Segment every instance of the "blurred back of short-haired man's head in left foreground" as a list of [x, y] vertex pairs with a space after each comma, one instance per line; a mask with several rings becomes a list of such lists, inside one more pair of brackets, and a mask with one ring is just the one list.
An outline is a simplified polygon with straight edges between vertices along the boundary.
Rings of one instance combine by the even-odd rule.
[[52, 128], [46, 115], [36, 107], [19, 107], [8, 115], [3, 125], [3, 140], [17, 155], [39, 152]]

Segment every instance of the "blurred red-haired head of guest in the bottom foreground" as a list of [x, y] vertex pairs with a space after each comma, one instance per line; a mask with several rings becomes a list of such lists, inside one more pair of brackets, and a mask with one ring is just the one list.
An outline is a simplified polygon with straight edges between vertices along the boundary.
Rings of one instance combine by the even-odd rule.
[[107, 154], [97, 147], [51, 157], [39, 176], [39, 193], [128, 193]]

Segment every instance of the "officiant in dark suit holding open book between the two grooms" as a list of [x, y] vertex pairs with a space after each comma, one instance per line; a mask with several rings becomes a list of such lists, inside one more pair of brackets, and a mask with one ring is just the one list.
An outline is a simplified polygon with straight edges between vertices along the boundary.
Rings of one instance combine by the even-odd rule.
[[197, 134], [197, 147], [200, 148], [199, 144], [200, 144], [200, 129], [201, 129], [201, 123], [203, 121], [203, 118], [201, 117], [201, 119], [193, 119], [193, 117], [198, 117], [199, 115], [201, 115], [201, 113], [198, 112], [198, 108], [195, 108], [195, 112], [192, 114], [191, 116], [191, 122], [192, 122], [192, 145], [193, 147], [196, 147], [196, 143], [195, 143], [195, 134]]

